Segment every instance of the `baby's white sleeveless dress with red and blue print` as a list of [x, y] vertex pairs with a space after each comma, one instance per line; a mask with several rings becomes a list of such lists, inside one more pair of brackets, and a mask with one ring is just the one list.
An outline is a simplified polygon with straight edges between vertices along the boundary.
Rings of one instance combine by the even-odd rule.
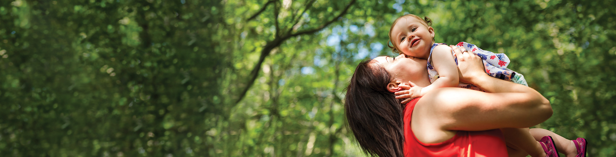
[[[439, 73], [436, 72], [436, 70], [434, 69], [434, 66], [432, 66], [432, 51], [434, 50], [434, 47], [436, 47], [437, 45], [443, 45], [443, 44], [445, 43], [434, 43], [432, 44], [432, 48], [430, 48], [430, 55], [428, 56], [428, 76], [430, 77], [430, 83], [434, 83], [436, 79], [439, 79]], [[467, 42], [460, 42], [456, 46], [464, 47], [469, 52], [475, 53], [477, 56], [479, 56], [484, 62], [485, 73], [487, 73], [488, 75], [495, 77], [497, 79], [506, 80], [506, 81], [510, 81], [513, 83], [518, 83], [521, 85], [529, 86], [526, 80], [524, 79], [524, 75], [519, 74], [507, 68], [507, 66], [509, 66], [510, 60], [509, 60], [509, 57], [505, 55], [505, 53], [492, 53], [486, 50], [481, 50], [481, 48], [477, 47], [476, 45], [469, 44]], [[453, 59], [457, 65], [458, 58], [456, 58], [455, 53], [453, 51], [452, 51], [452, 55], [454, 55]], [[458, 84], [458, 87], [482, 91], [481, 89], [479, 89], [479, 87], [475, 85], [467, 84], [467, 83], [460, 82]]]

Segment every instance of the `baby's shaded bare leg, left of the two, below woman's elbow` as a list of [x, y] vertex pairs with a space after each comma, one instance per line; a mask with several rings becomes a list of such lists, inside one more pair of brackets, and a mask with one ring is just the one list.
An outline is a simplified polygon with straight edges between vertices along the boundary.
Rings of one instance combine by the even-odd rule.
[[505, 141], [533, 157], [546, 156], [541, 144], [530, 134], [529, 128], [501, 128]]

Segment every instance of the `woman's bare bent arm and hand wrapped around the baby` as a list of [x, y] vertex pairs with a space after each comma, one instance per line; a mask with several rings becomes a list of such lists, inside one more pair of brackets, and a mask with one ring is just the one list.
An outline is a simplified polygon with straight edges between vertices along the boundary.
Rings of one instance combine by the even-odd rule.
[[463, 88], [436, 89], [421, 98], [415, 107], [413, 113], [418, 113], [420, 119], [443, 131], [482, 131], [528, 128], [551, 117], [551, 105], [540, 93], [488, 76], [479, 56], [454, 49], [461, 82], [471, 83], [489, 93]]

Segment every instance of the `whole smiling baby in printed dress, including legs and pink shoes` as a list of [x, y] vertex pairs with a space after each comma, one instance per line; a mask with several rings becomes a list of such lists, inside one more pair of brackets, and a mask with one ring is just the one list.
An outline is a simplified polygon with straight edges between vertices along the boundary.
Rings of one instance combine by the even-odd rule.
[[[436, 88], [461, 87], [481, 91], [477, 86], [460, 82], [455, 53], [447, 44], [434, 42], [434, 28], [431, 24], [432, 21], [428, 17], [420, 18], [407, 14], [397, 18], [389, 30], [389, 40], [392, 46], [389, 43], [387, 46], [392, 48], [393, 52], [428, 61], [427, 70], [431, 85], [425, 88], [415, 86], [411, 82], [408, 82], [410, 86], [391, 85], [391, 88], [399, 89], [395, 92], [398, 95], [397, 99], [406, 98], [402, 101], [403, 104]], [[523, 75], [507, 68], [509, 58], [505, 54], [488, 52], [466, 42], [460, 42], [456, 46], [480, 56], [488, 75], [528, 86]], [[387, 88], [390, 88], [389, 85]], [[584, 156], [586, 153], [586, 140], [583, 138], [566, 140], [545, 129], [530, 129], [529, 131], [528, 128], [503, 128], [501, 131], [503, 131], [508, 146], [520, 148], [533, 157], [558, 156], [556, 147], [564, 150], [563, 153], [567, 156]], [[552, 136], [559, 139], [557, 140], [559, 143], [554, 144]]]

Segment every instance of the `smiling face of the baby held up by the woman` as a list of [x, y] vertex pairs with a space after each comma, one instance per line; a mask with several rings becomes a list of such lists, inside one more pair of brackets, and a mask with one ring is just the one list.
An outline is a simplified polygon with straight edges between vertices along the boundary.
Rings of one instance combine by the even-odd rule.
[[391, 41], [405, 55], [428, 59], [434, 29], [415, 17], [403, 17], [392, 28]]

